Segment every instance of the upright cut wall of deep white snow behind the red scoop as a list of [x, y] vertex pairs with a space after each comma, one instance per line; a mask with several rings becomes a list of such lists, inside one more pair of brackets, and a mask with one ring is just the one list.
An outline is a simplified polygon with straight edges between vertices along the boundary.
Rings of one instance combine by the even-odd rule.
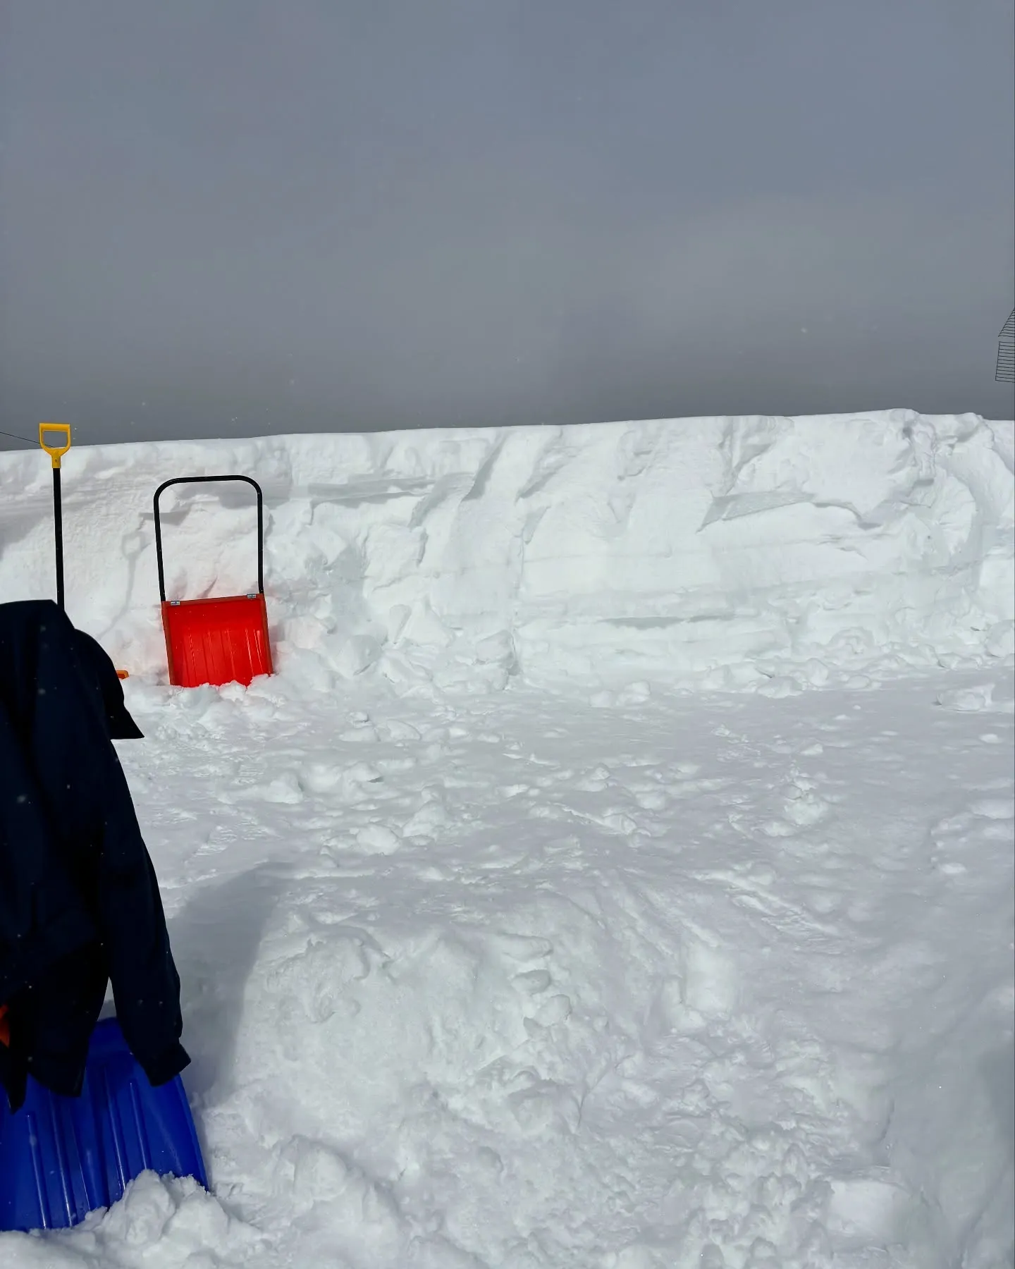
[[[279, 667], [782, 693], [1012, 652], [1012, 424], [907, 410], [72, 449], [67, 607], [164, 673], [151, 499], [265, 494]], [[250, 491], [162, 500], [170, 598], [254, 580]], [[49, 466], [0, 454], [0, 598], [53, 593]]]

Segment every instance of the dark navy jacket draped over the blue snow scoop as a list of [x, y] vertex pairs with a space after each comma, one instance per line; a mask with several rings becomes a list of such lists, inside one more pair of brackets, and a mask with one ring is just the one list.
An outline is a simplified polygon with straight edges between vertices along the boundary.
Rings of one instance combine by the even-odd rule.
[[80, 1093], [112, 981], [152, 1084], [189, 1058], [159, 884], [112, 739], [141, 736], [102, 647], [52, 600], [0, 604], [0, 1003], [11, 1109], [25, 1074]]

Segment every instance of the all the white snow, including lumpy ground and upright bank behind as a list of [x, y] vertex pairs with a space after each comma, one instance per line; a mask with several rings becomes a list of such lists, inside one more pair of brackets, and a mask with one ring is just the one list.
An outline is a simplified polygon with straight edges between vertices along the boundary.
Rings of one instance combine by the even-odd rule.
[[[212, 1194], [14, 1269], [1012, 1264], [1012, 424], [911, 411], [72, 449], [67, 609]], [[0, 598], [52, 593], [0, 456]], [[265, 494], [277, 667], [165, 681], [151, 497]], [[251, 588], [241, 486], [171, 598]]]

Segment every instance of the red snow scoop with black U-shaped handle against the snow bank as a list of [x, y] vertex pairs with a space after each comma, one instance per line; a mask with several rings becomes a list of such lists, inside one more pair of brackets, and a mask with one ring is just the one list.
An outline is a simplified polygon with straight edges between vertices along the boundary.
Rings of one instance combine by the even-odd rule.
[[[170, 485], [241, 480], [258, 494], [258, 591], [217, 599], [166, 599], [159, 495]], [[179, 476], [155, 491], [155, 555], [166, 637], [169, 681], [181, 688], [242, 683], [273, 674], [264, 603], [264, 511], [260, 485], [249, 476]]]

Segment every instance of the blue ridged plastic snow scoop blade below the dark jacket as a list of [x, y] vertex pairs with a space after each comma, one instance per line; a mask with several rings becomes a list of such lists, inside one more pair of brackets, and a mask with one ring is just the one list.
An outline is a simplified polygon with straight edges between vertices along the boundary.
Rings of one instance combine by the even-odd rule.
[[24, 1105], [0, 1099], [0, 1230], [58, 1230], [123, 1197], [146, 1169], [208, 1178], [179, 1075], [154, 1089], [119, 1023], [98, 1023], [79, 1098], [30, 1076]]

